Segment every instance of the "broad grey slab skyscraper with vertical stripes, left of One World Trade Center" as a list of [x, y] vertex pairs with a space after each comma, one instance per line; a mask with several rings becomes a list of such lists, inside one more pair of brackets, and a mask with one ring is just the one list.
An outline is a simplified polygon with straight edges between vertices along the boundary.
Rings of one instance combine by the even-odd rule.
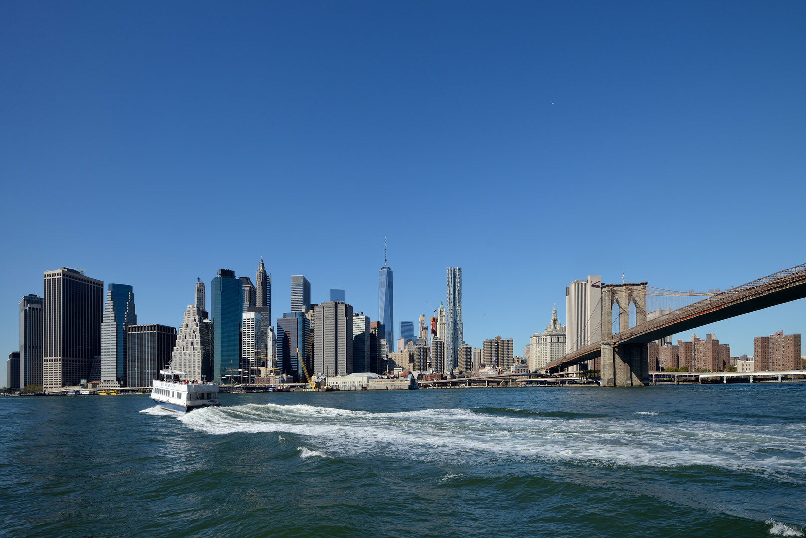
[[353, 372], [352, 307], [323, 302], [314, 311], [314, 372], [326, 376]]

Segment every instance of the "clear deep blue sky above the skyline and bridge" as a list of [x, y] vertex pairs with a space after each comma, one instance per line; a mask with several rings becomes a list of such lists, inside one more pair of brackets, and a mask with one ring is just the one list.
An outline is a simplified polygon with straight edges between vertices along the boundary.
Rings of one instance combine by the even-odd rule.
[[[4, 357], [61, 265], [177, 326], [197, 276], [262, 253], [276, 315], [302, 273], [377, 319], [387, 236], [396, 322], [459, 265], [465, 340], [520, 354], [588, 274], [803, 263], [804, 27], [802, 2], [2, 2]], [[803, 301], [697, 332], [779, 329]]]

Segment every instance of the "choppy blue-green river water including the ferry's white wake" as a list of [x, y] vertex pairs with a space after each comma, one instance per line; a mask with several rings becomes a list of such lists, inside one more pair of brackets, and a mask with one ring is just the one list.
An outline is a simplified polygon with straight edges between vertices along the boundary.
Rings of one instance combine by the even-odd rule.
[[0, 398], [10, 536], [803, 536], [806, 384]]

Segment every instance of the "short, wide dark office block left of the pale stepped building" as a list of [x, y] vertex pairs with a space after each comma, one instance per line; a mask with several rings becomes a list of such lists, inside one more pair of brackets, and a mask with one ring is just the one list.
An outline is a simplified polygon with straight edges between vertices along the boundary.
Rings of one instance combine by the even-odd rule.
[[126, 344], [128, 386], [152, 386], [160, 370], [171, 363], [177, 329], [156, 324], [128, 325]]

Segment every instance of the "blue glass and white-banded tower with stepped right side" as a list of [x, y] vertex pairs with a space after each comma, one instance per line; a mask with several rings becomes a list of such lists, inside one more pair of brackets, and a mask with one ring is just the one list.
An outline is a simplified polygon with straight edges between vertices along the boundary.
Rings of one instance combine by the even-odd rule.
[[106, 290], [101, 324], [101, 386], [127, 386], [126, 327], [137, 324], [135, 294], [126, 284]]

